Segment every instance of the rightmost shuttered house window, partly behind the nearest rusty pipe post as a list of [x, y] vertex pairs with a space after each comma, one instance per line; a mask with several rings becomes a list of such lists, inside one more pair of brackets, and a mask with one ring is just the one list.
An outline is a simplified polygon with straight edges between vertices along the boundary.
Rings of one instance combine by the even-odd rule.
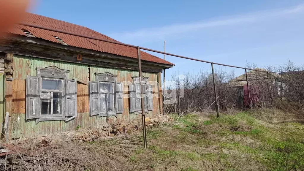
[[[147, 96], [147, 89], [152, 88], [152, 85], [147, 84], [148, 78], [143, 77], [142, 89], [143, 89], [143, 104], [145, 112], [148, 112], [148, 110], [152, 110], [152, 98], [151, 94], [152, 91], [149, 91], [149, 96]], [[150, 89], [151, 90], [151, 89]], [[130, 97], [130, 111], [135, 112], [136, 114], [141, 113], [141, 99], [140, 99], [140, 83], [138, 77], [133, 77], [133, 85], [130, 85], [130, 92], [132, 96]]]

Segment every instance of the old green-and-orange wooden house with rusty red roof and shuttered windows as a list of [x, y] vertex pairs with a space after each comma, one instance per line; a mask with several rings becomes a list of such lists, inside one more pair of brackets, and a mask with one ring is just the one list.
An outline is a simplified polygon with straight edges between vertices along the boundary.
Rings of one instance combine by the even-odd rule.
[[[22, 23], [116, 41], [83, 26], [31, 13]], [[11, 138], [127, 121], [140, 113], [140, 98], [135, 96], [140, 93], [136, 48], [22, 25], [9, 33], [0, 44], [0, 120], [4, 123], [9, 112]], [[144, 89], [153, 87], [161, 97], [161, 72], [174, 64], [140, 54]], [[132, 84], [123, 88], [124, 81]], [[161, 113], [158, 97], [145, 97], [149, 115]]]

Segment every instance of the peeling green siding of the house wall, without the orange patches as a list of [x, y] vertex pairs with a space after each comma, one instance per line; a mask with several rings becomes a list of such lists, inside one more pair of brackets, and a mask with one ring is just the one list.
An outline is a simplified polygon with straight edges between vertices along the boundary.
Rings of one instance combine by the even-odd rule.
[[[27, 56], [16, 55], [15, 58], [13, 59], [13, 68], [14, 68], [13, 78], [19, 80], [26, 80], [27, 75], [36, 76], [36, 67], [47, 67], [50, 65], [54, 65], [60, 69], [69, 70], [70, 71], [68, 73], [69, 79], [73, 79], [74, 77], [76, 77], [85, 82], [89, 81], [89, 74], [90, 74], [90, 80], [95, 81], [96, 72], [97, 73], [109, 72], [111, 74], [118, 75], [117, 76], [118, 82], [122, 82], [126, 80], [132, 82], [132, 76], [138, 76], [137, 71], [121, 70], [121, 69], [113, 69], [113, 68], [101, 68], [97, 66], [89, 67], [88, 65], [83, 65], [80, 63], [78, 64], [78, 63], [55, 61], [55, 60], [33, 58], [33, 57], [29, 58]], [[143, 76], [149, 77], [148, 81], [158, 81], [159, 79], [158, 73], [143, 72]], [[0, 79], [0, 85], [2, 85], [1, 79]], [[78, 86], [78, 88], [79, 87], [80, 86]], [[82, 87], [86, 87], [88, 89], [87, 85]], [[83, 91], [86, 92], [87, 90], [83, 89]], [[1, 99], [1, 93], [3, 92], [0, 92], [0, 99]], [[157, 100], [158, 98], [153, 99], [153, 101], [155, 102], [153, 104], [153, 113], [150, 111], [149, 115], [152, 114], [157, 115], [160, 112]], [[1, 107], [3, 107], [3, 105], [1, 106], [0, 104], [0, 110]], [[4, 113], [1, 114], [2, 120], [3, 120], [3, 115]], [[90, 127], [98, 127], [103, 122], [115, 122], [116, 120], [127, 121], [135, 118], [140, 118], [140, 115], [129, 113], [128, 107], [124, 108], [124, 114], [117, 114], [117, 118], [115, 116], [89, 117], [89, 113], [85, 112], [85, 113], [78, 113], [75, 119], [67, 123], [63, 120], [57, 120], [57, 121], [40, 121], [38, 124], [36, 124], [35, 120], [25, 120], [25, 113], [12, 113], [10, 114], [9, 126], [10, 126], [11, 138], [19, 138], [19, 137], [28, 137], [28, 136], [36, 136], [36, 135], [41, 136], [50, 133], [56, 134], [63, 131], [71, 131], [74, 130], [78, 125], [80, 125], [81, 128], [90, 128]]]

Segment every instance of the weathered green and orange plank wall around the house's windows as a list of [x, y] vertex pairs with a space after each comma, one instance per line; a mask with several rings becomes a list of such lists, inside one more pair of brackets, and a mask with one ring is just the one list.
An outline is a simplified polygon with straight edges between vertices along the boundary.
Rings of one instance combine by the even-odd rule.
[[[27, 137], [34, 135], [47, 135], [50, 133], [71, 131], [78, 125], [82, 128], [96, 127], [103, 122], [127, 121], [140, 115], [129, 113], [129, 99], [124, 98], [124, 111], [123, 114], [118, 114], [116, 117], [89, 117], [89, 98], [88, 98], [88, 85], [77, 82], [77, 117], [69, 122], [63, 120], [56, 121], [40, 121], [36, 124], [35, 120], [25, 120], [25, 97], [26, 97], [26, 76], [36, 76], [36, 67], [47, 67], [55, 65], [60, 69], [69, 70], [68, 79], [74, 77], [81, 79], [83, 82], [94, 81], [95, 72], [103, 73], [109, 72], [117, 75], [117, 81], [130, 81], [132, 76], [138, 76], [137, 71], [101, 68], [97, 66], [88, 66], [81, 63], [70, 63], [64, 61], [55, 61], [43, 58], [29, 58], [27, 56], [15, 55], [12, 63], [14, 68], [12, 83], [12, 113], [10, 113], [10, 137]], [[90, 76], [89, 76], [90, 75]], [[143, 76], [149, 77], [148, 81], [159, 81], [160, 73], [143, 72]], [[1, 80], [0, 80], [1, 84]], [[125, 93], [127, 91], [125, 90]], [[156, 91], [157, 93], [157, 91]], [[124, 95], [126, 96], [126, 95]], [[0, 93], [1, 99], [1, 93]], [[0, 101], [1, 103], [1, 101]], [[1, 109], [1, 104], [0, 104]], [[149, 115], [157, 115], [160, 113], [159, 98], [153, 98], [153, 111]], [[1, 115], [3, 117], [4, 114]], [[1, 119], [1, 118], [0, 118]], [[2, 119], [3, 120], [3, 119]]]

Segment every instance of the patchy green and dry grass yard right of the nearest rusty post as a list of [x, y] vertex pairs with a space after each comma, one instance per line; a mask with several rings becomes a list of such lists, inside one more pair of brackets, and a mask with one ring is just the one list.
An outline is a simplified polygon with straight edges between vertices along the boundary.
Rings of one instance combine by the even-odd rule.
[[246, 112], [204, 121], [194, 114], [174, 119], [166, 125], [174, 132], [148, 130], [148, 150], [136, 149], [130, 162], [146, 161], [155, 170], [208, 170], [210, 163], [223, 170], [304, 170], [303, 124], [267, 124]]

